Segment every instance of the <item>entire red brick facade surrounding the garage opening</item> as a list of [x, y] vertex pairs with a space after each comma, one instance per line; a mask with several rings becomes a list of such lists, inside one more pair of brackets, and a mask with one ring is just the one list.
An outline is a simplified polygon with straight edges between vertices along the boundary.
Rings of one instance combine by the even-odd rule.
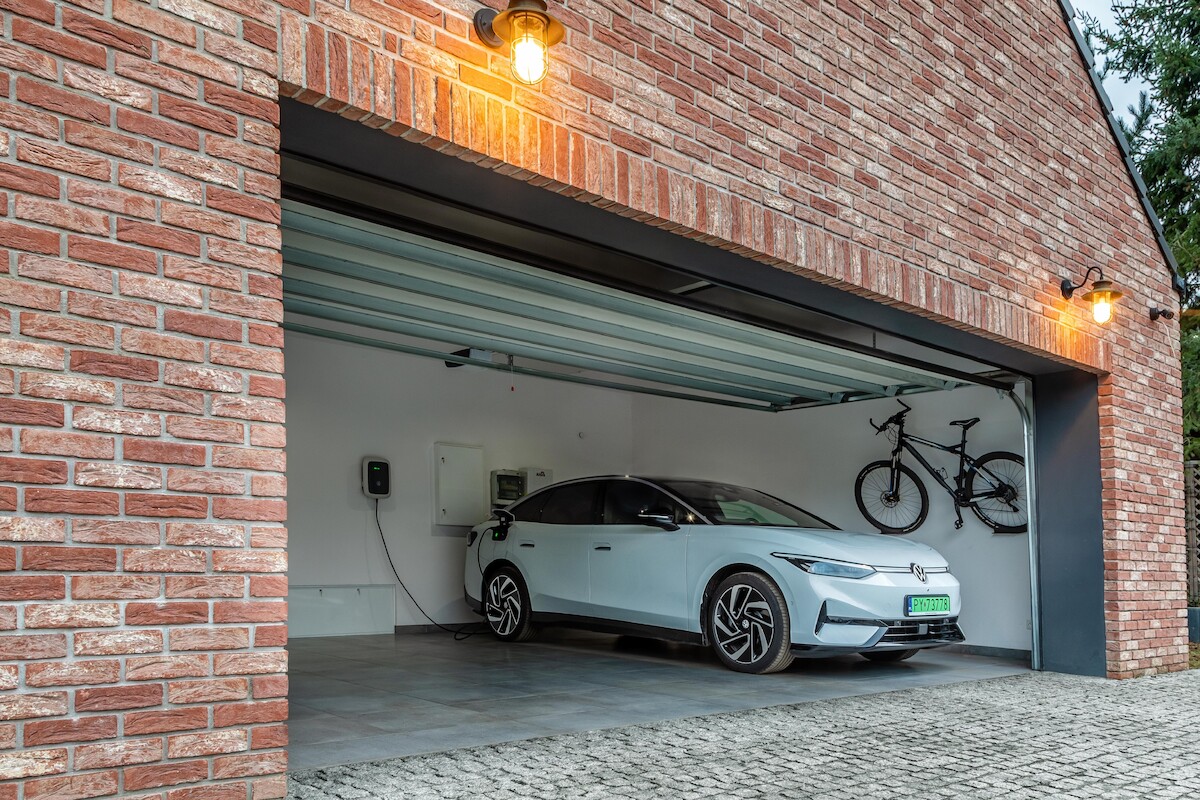
[[[0, 0], [0, 800], [284, 793], [280, 94], [1105, 377], [1114, 676], [1184, 666], [1177, 327], [1056, 2]], [[1127, 291], [1097, 329], [1058, 279]]]

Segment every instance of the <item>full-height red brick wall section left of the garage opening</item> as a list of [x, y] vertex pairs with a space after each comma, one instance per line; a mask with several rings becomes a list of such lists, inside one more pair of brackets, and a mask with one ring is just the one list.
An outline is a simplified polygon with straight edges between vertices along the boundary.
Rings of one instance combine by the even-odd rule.
[[277, 11], [158, 5], [0, 0], [0, 799], [286, 788]]

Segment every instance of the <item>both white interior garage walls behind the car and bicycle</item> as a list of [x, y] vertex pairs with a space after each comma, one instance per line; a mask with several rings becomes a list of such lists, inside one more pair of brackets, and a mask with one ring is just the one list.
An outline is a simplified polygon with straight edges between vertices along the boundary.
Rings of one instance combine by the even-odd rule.
[[[292, 585], [394, 583], [373, 501], [360, 491], [362, 456], [383, 456], [391, 462], [392, 495], [379, 509], [392, 558], [425, 610], [450, 624], [478, 618], [462, 602], [464, 529], [432, 524], [436, 441], [482, 445], [487, 470], [550, 467], [556, 480], [624, 473], [727, 480], [797, 501], [839, 527], [865, 529], [854, 476], [889, 447], [866, 419], [898, 408], [872, 401], [764, 414], [521, 375], [514, 392], [502, 372], [448, 369], [439, 361], [292, 332], [287, 381]], [[1015, 408], [991, 390], [906, 402], [914, 408], [912, 433], [949, 441], [958, 429], [947, 421], [980, 416], [971, 431], [972, 453], [1022, 451]], [[947, 459], [934, 463], [953, 473]], [[949, 498], [931, 480], [926, 487], [930, 516], [911, 537], [949, 559], [964, 587], [968, 642], [1027, 650], [1027, 535], [992, 535], [970, 512], [955, 531]], [[395, 622], [425, 624], [396, 594]], [[292, 624], [298, 633], [305, 630], [300, 619]]]

